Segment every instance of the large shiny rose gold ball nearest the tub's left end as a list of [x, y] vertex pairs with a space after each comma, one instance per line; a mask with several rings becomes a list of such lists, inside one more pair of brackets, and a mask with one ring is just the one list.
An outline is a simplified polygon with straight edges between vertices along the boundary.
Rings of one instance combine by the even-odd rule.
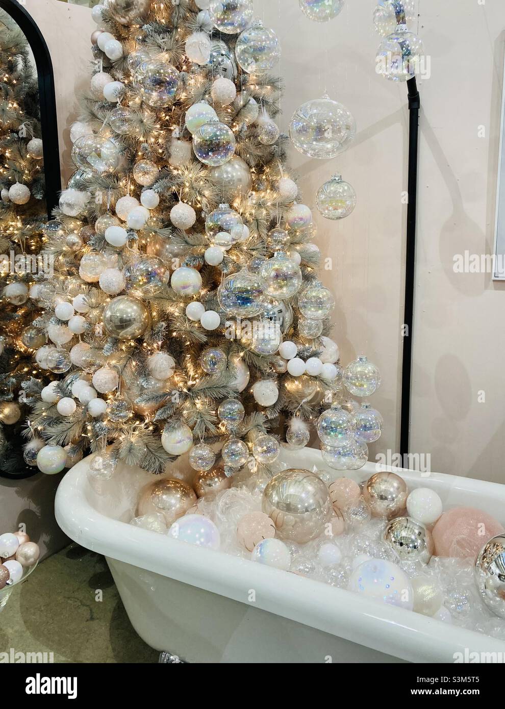
[[196, 503], [196, 494], [182, 480], [165, 478], [150, 483], [140, 493], [138, 516], [162, 513], [167, 525], [172, 525], [179, 517], [187, 513]]

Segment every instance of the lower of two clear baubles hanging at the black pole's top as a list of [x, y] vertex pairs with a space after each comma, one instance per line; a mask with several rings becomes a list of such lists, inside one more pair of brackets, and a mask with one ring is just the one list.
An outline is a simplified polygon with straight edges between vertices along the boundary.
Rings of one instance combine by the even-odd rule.
[[375, 71], [392, 82], [406, 82], [421, 71], [424, 45], [406, 25], [399, 25], [379, 45]]

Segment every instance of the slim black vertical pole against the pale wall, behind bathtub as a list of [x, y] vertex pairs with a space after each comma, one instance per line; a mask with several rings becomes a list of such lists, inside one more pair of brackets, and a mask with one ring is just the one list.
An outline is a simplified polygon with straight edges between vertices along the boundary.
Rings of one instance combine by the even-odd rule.
[[414, 290], [416, 282], [416, 217], [418, 187], [419, 111], [421, 98], [416, 77], [409, 89], [409, 204], [407, 208], [404, 339], [401, 366], [400, 453], [409, 453], [412, 379], [412, 338], [414, 335]]

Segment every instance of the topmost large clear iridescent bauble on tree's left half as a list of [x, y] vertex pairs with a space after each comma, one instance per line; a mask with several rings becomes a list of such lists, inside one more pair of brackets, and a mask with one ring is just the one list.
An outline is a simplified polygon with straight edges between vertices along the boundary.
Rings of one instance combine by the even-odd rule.
[[180, 74], [170, 62], [150, 59], [142, 62], [133, 74], [133, 87], [152, 108], [171, 106], [179, 91]]

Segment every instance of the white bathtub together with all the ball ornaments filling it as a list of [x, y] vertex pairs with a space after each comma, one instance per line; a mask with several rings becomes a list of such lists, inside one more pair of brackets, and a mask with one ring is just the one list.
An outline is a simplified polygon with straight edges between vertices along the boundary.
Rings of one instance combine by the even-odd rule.
[[505, 486], [370, 463], [343, 477], [309, 448], [284, 448], [272, 479], [233, 482], [195, 476], [184, 457], [155, 478], [93, 463], [62, 480], [57, 521], [106, 556], [133, 627], [160, 651], [260, 663], [505, 652]]

